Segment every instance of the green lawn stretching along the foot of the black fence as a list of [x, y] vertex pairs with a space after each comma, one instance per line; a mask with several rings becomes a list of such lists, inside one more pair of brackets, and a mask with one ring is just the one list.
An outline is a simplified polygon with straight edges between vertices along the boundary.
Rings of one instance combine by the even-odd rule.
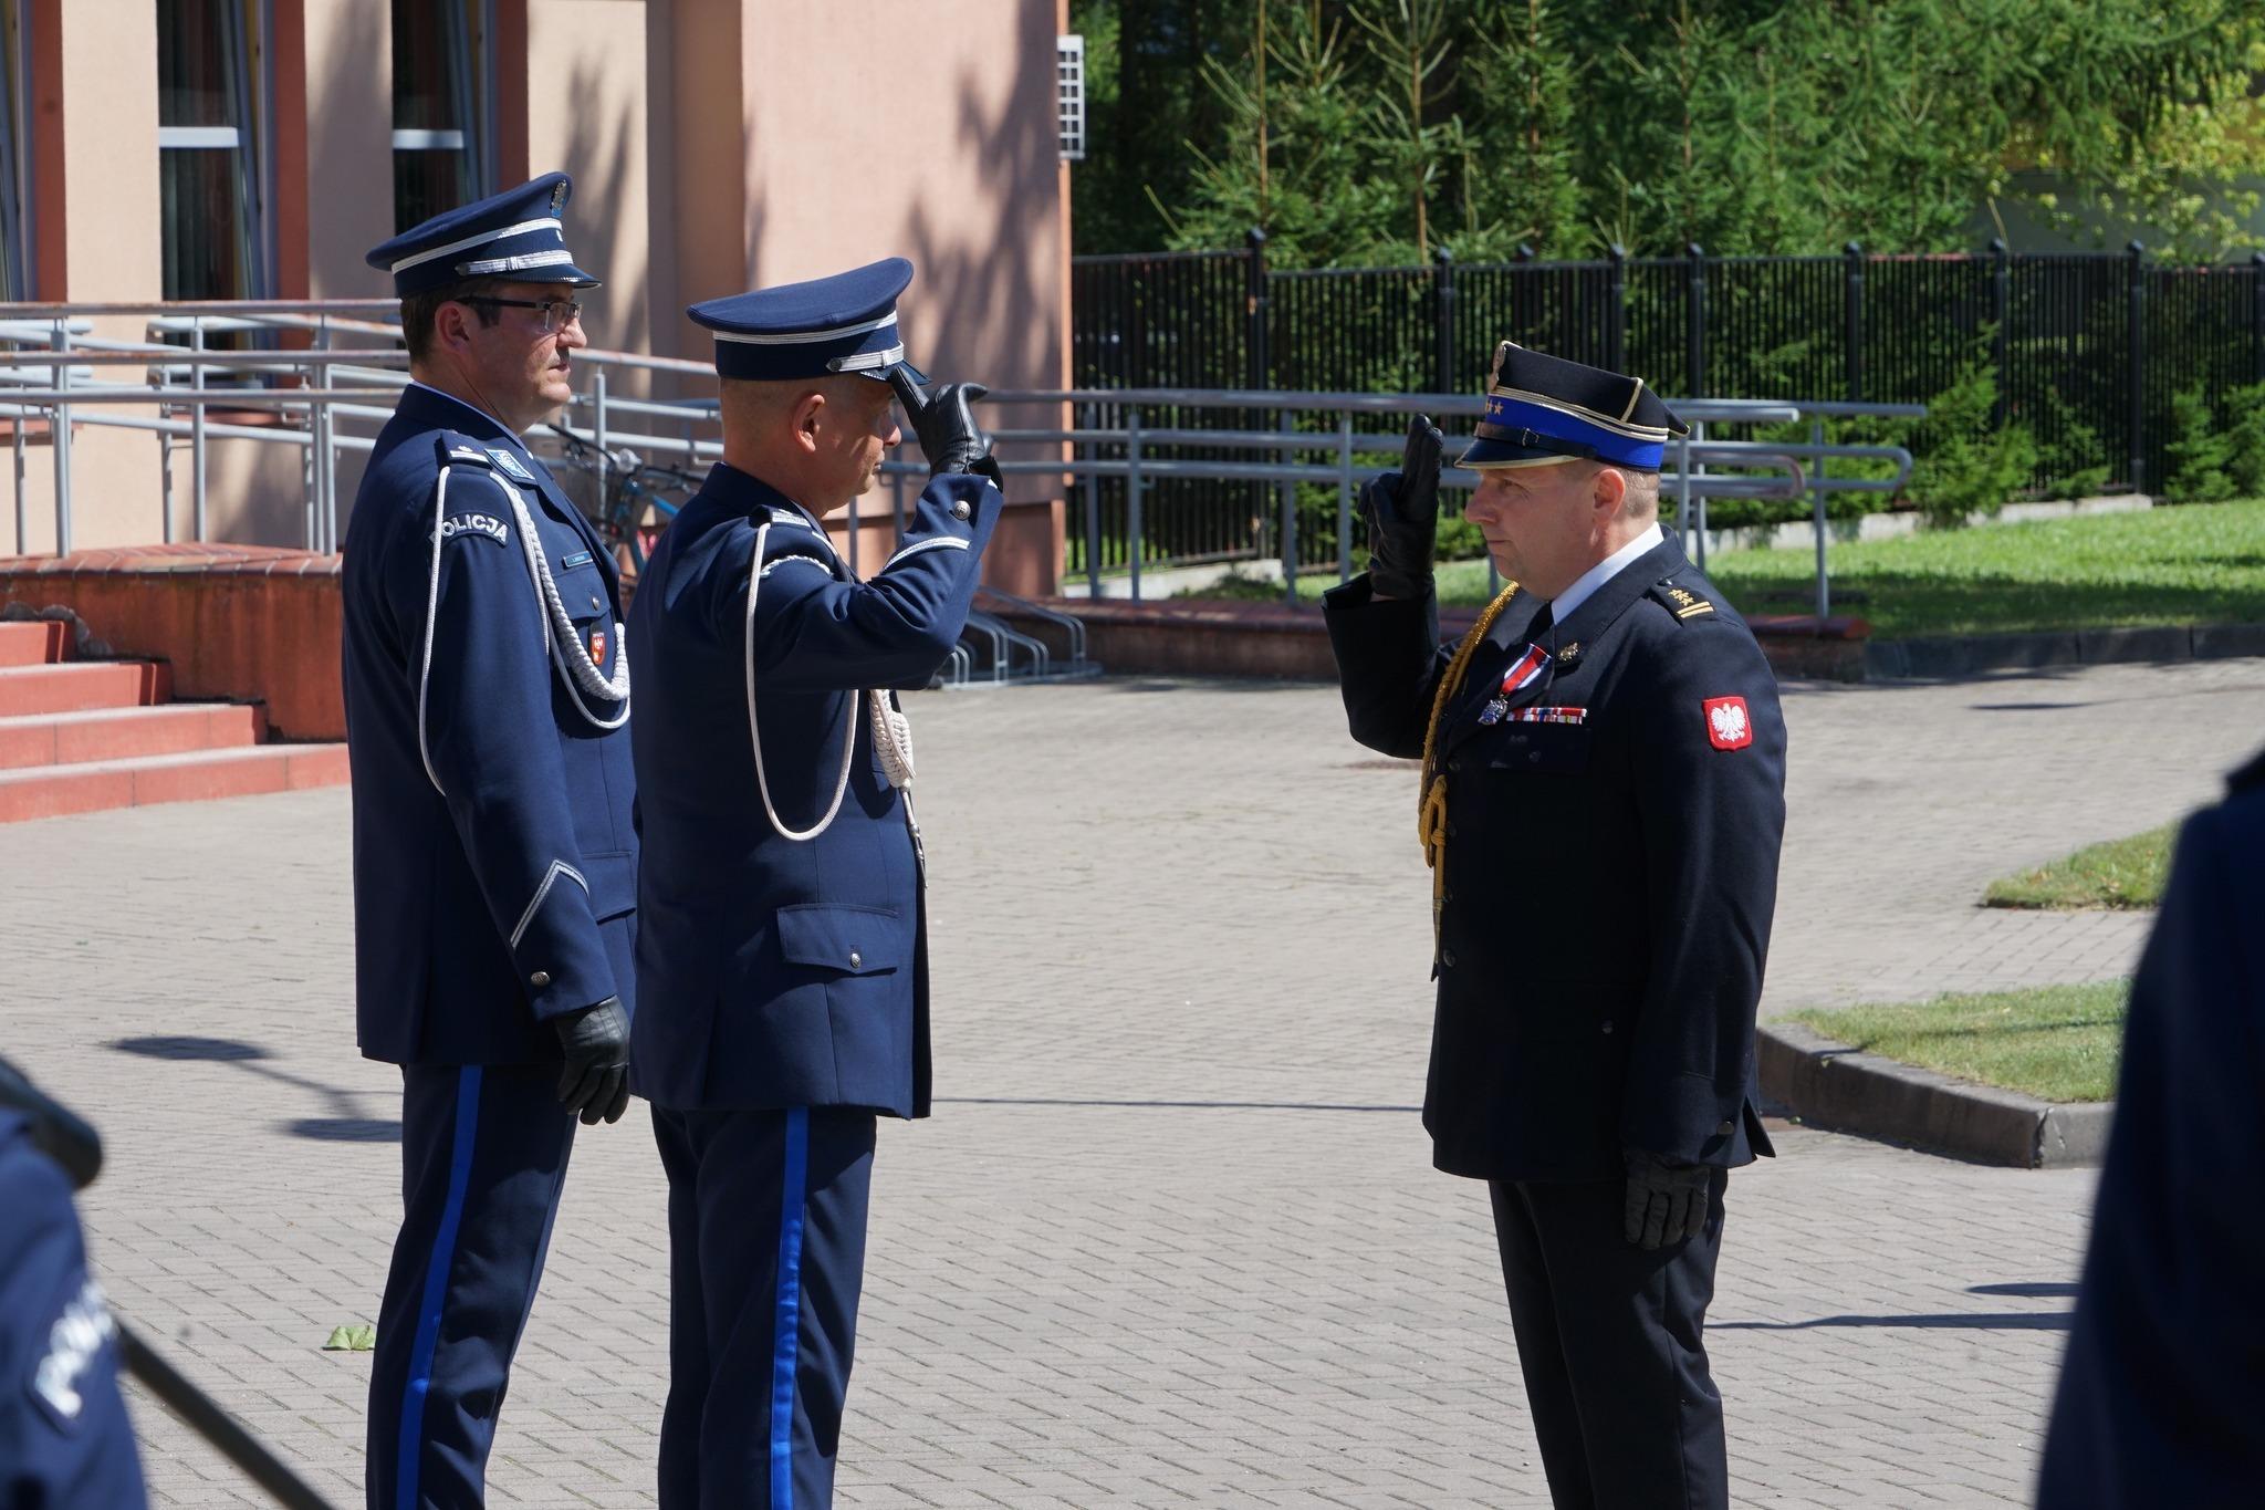
[[[1869, 618], [1875, 638], [2265, 623], [2265, 500], [1928, 530], [1832, 546], [1826, 561], [1835, 607]], [[1719, 552], [1708, 575], [1744, 614], [1805, 614], [1817, 552]], [[1334, 580], [1302, 577], [1300, 595], [1318, 598]], [[1438, 591], [1441, 602], [1486, 602], [1486, 561], [1441, 566]]]

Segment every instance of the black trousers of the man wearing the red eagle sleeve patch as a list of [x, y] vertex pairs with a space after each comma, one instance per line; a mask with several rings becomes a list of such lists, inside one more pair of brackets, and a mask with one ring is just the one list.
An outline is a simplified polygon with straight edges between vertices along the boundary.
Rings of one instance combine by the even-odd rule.
[[1726, 1184], [1728, 1170], [1717, 1170], [1706, 1232], [1644, 1252], [1624, 1236], [1619, 1179], [1488, 1182], [1558, 1510], [1728, 1510], [1721, 1395], [1699, 1336]]

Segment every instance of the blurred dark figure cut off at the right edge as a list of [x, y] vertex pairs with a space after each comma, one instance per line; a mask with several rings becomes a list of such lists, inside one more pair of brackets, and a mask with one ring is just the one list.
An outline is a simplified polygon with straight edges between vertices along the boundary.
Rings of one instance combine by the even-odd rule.
[[2260, 849], [2265, 756], [2186, 822], [2131, 978], [2038, 1510], [2265, 1496]]

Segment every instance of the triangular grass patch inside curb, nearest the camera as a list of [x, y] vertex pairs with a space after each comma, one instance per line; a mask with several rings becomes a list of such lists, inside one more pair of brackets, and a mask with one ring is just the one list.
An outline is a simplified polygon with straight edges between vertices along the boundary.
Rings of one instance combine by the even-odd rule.
[[2129, 980], [1937, 996], [1894, 1007], [1796, 1012], [1851, 1048], [2023, 1091], [2050, 1103], [2109, 1100]]

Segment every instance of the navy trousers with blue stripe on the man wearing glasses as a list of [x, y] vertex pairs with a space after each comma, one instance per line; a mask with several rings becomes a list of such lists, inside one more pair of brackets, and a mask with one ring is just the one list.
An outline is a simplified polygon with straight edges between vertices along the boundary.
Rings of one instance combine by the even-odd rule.
[[401, 1236], [369, 1374], [369, 1510], [476, 1510], [575, 1121], [557, 1066], [401, 1071]]

